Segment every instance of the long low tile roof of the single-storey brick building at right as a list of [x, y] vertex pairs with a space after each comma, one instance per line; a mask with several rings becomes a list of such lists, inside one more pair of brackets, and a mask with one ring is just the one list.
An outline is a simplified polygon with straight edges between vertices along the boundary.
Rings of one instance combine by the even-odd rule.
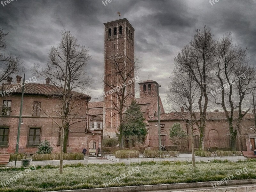
[[[196, 115], [196, 119], [200, 118], [200, 113], [196, 112], [194, 113]], [[230, 114], [230, 112], [229, 112]], [[163, 113], [160, 115], [160, 121], [173, 121], [173, 120], [185, 120], [189, 119], [190, 113], [181, 113], [181, 112], [171, 112], [171, 113]], [[238, 111], [234, 111], [234, 119], [238, 118]], [[226, 120], [225, 112], [208, 112], [208, 115], [206, 115], [207, 120]], [[244, 119], [253, 120], [254, 116], [250, 113], [247, 113], [244, 116]], [[148, 121], [158, 121], [158, 117], [154, 117], [149, 119]]]

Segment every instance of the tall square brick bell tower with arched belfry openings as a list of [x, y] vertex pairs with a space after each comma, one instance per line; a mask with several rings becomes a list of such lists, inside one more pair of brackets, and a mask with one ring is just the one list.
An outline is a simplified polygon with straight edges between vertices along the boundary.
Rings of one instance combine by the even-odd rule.
[[[127, 68], [134, 68], [134, 28], [130, 22], [124, 18], [104, 23], [104, 82], [117, 82], [118, 73], [113, 66], [113, 58], [121, 58]], [[131, 75], [134, 79], [134, 71]], [[117, 84], [117, 83], [116, 83]], [[116, 85], [115, 85], [116, 86]], [[110, 88], [104, 84], [104, 93], [110, 91]], [[126, 92], [132, 93], [126, 99], [126, 105], [134, 99], [135, 83], [126, 87]], [[119, 114], [114, 109], [115, 102], [118, 100], [114, 94], [104, 95], [103, 102], [103, 135], [115, 136], [118, 132]]]

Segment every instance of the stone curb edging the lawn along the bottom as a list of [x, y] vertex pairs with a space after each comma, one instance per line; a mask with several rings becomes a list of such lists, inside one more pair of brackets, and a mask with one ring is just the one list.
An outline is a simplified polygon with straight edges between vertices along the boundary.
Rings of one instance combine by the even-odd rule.
[[[185, 188], [212, 188], [212, 184], [220, 181], [198, 182], [198, 183], [174, 183], [174, 184], [161, 184], [161, 185], [142, 185], [142, 186], [128, 186], [128, 187], [111, 187], [111, 188], [94, 188], [94, 189], [76, 189], [52, 192], [138, 192], [138, 191], [154, 191], [154, 190], [169, 190], [169, 189], [185, 189]], [[245, 185], [255, 184], [256, 179], [248, 180], [230, 180], [218, 186], [231, 186], [231, 185]]]

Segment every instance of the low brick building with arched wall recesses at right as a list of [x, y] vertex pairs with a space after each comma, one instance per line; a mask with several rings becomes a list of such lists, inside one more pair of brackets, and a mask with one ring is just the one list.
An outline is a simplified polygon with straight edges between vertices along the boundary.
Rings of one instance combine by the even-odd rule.
[[[195, 113], [197, 119], [200, 114]], [[174, 123], [180, 123], [183, 130], [189, 135], [191, 134], [191, 129], [186, 123], [186, 120], [189, 119], [187, 112], [184, 112], [184, 109], [181, 108], [181, 112], [172, 112], [172, 113], [163, 113], [160, 115], [160, 135], [161, 135], [161, 144], [162, 145], [173, 145], [169, 140], [170, 128]], [[234, 111], [234, 118], [237, 119], [238, 111]], [[207, 123], [205, 128], [205, 149], [209, 148], [230, 148], [230, 134], [228, 129], [228, 123], [226, 121], [226, 116], [224, 112], [214, 111], [209, 112], [206, 116]], [[148, 120], [149, 122], [149, 137], [152, 140], [158, 135], [158, 118], [152, 118]], [[199, 147], [199, 130], [194, 130], [194, 141], [195, 148]], [[254, 116], [250, 113], [244, 116], [243, 121], [241, 122], [241, 131], [240, 136], [237, 139], [237, 149], [238, 150], [254, 150], [256, 142], [256, 130], [254, 127]], [[157, 145], [158, 140], [151, 145]], [[191, 149], [191, 140], [189, 139], [187, 143], [183, 145], [188, 146]]]

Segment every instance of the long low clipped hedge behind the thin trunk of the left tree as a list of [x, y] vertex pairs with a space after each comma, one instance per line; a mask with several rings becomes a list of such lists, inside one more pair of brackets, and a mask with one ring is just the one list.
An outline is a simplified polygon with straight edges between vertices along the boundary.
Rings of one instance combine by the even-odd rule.
[[[82, 153], [63, 153], [63, 160], [80, 160], [84, 159], [84, 154]], [[52, 161], [60, 160], [60, 153], [51, 154], [34, 154], [33, 161]]]

